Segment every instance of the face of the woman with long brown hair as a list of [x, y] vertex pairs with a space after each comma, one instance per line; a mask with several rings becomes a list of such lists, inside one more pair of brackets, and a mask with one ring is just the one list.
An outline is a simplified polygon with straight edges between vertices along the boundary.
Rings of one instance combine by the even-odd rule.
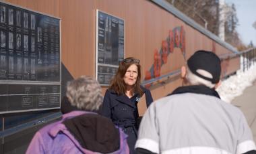
[[127, 68], [123, 80], [127, 86], [133, 86], [137, 81], [137, 76], [138, 68], [135, 64], [132, 64], [129, 68]]

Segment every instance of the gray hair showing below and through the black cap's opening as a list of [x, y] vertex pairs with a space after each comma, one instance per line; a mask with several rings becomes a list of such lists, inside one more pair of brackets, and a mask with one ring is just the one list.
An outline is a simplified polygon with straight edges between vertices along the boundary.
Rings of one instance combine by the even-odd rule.
[[[212, 76], [212, 74], [210, 74], [209, 72], [207, 71], [204, 71], [204, 70], [201, 70], [199, 72], [199, 74], [201, 74], [202, 76]], [[210, 76], [209, 76], [210, 74]], [[212, 82], [208, 81], [208, 80], [205, 80], [203, 78], [200, 78], [199, 76], [193, 74], [191, 72], [191, 70], [189, 70], [189, 67], [187, 67], [187, 75], [186, 75], [186, 79], [187, 79], [187, 82], [189, 82], [189, 84], [191, 85], [205, 85], [209, 88], [214, 88], [215, 84], [213, 84]]]

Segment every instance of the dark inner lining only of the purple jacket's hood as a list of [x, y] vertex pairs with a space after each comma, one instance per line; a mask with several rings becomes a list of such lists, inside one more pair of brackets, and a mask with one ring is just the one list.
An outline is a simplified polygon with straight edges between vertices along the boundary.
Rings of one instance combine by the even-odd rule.
[[63, 121], [79, 144], [90, 151], [111, 153], [119, 149], [119, 129], [99, 114], [82, 114]]

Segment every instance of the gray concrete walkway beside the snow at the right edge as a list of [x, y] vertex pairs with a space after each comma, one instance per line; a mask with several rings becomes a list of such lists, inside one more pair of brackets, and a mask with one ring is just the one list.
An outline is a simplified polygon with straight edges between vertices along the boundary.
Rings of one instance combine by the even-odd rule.
[[256, 81], [253, 86], [246, 88], [243, 94], [234, 98], [231, 103], [238, 106], [245, 114], [256, 143]]

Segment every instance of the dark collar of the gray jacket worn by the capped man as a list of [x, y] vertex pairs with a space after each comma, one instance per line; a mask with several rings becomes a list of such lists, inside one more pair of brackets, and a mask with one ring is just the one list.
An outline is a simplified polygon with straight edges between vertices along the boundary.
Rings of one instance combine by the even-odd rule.
[[206, 94], [210, 96], [216, 96], [220, 98], [218, 92], [216, 90], [208, 88], [207, 86], [203, 85], [197, 85], [197, 86], [181, 86], [177, 89], [175, 89], [171, 94], [168, 94], [167, 96], [170, 96], [172, 94], [183, 94], [183, 93], [195, 93], [195, 94]]

